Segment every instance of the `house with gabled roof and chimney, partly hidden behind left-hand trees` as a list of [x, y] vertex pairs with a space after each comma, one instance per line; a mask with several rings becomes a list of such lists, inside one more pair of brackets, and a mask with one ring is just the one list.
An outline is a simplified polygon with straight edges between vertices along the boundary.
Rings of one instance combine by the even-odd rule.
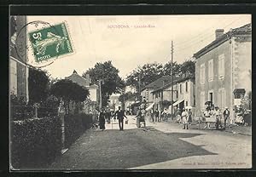
[[99, 104], [100, 96], [98, 86], [96, 84], [91, 84], [90, 75], [87, 74], [84, 78], [80, 76], [77, 71], [74, 70], [73, 74], [69, 77], [66, 77], [65, 79], [71, 80], [73, 81], [73, 83], [77, 83], [80, 86], [89, 90], [89, 100], [86, 100], [84, 102], [84, 111], [87, 112], [89, 110], [94, 110]]

